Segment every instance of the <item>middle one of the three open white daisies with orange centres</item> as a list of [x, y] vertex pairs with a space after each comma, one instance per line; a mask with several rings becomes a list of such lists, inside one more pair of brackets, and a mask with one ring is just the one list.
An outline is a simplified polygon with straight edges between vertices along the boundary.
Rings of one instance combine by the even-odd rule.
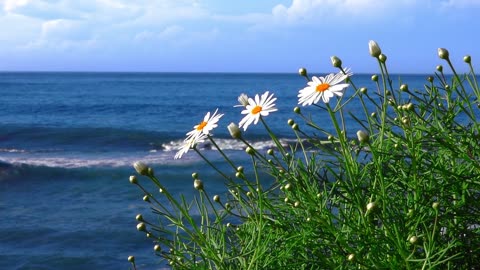
[[252, 122], [255, 125], [258, 123], [260, 116], [267, 116], [269, 113], [277, 111], [273, 103], [275, 100], [277, 100], [277, 98], [274, 98], [273, 94], [269, 96], [268, 91], [265, 92], [262, 97], [259, 97], [258, 94], [255, 95], [255, 100], [248, 98], [248, 104], [245, 106], [245, 110], [242, 111], [242, 114], [246, 115], [240, 123], [238, 123], [238, 126], [247, 130]]

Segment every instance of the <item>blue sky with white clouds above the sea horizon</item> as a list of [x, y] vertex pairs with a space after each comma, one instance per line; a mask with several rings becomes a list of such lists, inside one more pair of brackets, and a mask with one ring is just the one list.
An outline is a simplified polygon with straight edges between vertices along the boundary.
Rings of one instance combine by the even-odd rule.
[[0, 0], [0, 70], [430, 73], [480, 58], [480, 0]]

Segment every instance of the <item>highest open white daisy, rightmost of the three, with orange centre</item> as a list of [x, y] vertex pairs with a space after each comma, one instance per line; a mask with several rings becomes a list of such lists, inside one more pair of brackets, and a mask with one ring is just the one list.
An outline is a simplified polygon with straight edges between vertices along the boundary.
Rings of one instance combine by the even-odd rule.
[[298, 104], [302, 104], [302, 106], [316, 104], [320, 98], [324, 103], [328, 103], [334, 95], [341, 97], [343, 90], [349, 84], [340, 82], [352, 76], [349, 69], [346, 69], [345, 73], [330, 73], [325, 78], [313, 76], [312, 80], [307, 83], [308, 86], [299, 91]]

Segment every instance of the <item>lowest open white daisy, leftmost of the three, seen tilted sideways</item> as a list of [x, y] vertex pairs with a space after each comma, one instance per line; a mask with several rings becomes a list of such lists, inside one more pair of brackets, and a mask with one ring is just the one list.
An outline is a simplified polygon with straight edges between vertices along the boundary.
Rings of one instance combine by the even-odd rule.
[[187, 133], [187, 138], [183, 141], [182, 146], [175, 154], [175, 159], [181, 158], [186, 154], [190, 148], [194, 147], [197, 143], [205, 141], [207, 135], [210, 135], [210, 131], [216, 128], [218, 120], [222, 118], [223, 114], [217, 114], [218, 109], [210, 116], [210, 112], [207, 112], [203, 121], [193, 127], [193, 130]]

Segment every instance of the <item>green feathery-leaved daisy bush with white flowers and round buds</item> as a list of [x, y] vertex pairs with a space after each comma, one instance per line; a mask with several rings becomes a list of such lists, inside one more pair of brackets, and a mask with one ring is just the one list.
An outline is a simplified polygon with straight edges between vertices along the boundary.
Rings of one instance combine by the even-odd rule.
[[[439, 49], [453, 75], [437, 66], [424, 89], [410, 89], [393, 84], [376, 42], [369, 50], [379, 65], [375, 89], [357, 87], [335, 56], [336, 74], [309, 77], [299, 70], [307, 80], [299, 105], [314, 106], [332, 129], [295, 107], [300, 120], [287, 121], [294, 144], [282, 144], [265, 120], [276, 111], [273, 94], [240, 95], [244, 118], [228, 130], [245, 143], [251, 166], [238, 166], [215, 143], [218, 111], [187, 133], [175, 158], [193, 149], [227, 180], [226, 194], [210, 194], [193, 173], [198, 193], [187, 202], [136, 162], [136, 171], [159, 189], [130, 177], [158, 217], [136, 217], [155, 253], [174, 269], [474, 268], [480, 262], [480, 88], [471, 57], [464, 58], [470, 72], [461, 76]], [[346, 95], [348, 87], [353, 91]], [[364, 115], [351, 115], [361, 130], [345, 121], [352, 99], [362, 104]], [[259, 151], [244, 139], [242, 132], [258, 123], [276, 147]], [[196, 148], [203, 141], [231, 170], [220, 170]], [[266, 186], [266, 178], [273, 184]], [[129, 261], [135, 268], [134, 258]]]

